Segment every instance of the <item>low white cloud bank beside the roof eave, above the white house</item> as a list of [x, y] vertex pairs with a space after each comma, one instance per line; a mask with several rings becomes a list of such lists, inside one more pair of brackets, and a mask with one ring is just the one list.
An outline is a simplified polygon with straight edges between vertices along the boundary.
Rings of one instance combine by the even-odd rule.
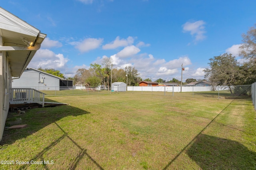
[[65, 58], [63, 54], [55, 54], [48, 49], [39, 49], [30, 61], [28, 67], [32, 68], [54, 68], [57, 70], [64, 69], [68, 58]]

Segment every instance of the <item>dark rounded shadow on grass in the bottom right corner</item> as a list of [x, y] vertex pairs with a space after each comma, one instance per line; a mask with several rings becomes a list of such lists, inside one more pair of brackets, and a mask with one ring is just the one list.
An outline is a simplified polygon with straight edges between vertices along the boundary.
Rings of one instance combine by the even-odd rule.
[[186, 153], [203, 170], [256, 169], [256, 153], [228, 139], [201, 134]]

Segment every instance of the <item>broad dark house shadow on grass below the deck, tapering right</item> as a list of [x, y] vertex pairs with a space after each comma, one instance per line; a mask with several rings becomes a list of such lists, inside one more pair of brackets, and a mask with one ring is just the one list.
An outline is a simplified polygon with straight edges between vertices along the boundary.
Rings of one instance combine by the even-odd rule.
[[[56, 102], [56, 101], [51, 101]], [[25, 138], [44, 127], [66, 116], [79, 116], [90, 112], [72, 106], [43, 107], [25, 110], [25, 114], [15, 116], [22, 119], [22, 124], [28, 126], [23, 129], [5, 129], [0, 145], [10, 145], [18, 139]], [[14, 117], [17, 113], [8, 113], [8, 117]]]

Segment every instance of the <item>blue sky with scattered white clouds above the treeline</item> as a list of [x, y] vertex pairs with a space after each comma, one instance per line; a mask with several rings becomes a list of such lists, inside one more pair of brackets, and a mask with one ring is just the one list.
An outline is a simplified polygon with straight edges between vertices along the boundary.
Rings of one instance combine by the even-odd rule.
[[[47, 34], [28, 65], [72, 77], [111, 57], [142, 79], [203, 79], [209, 59], [238, 57], [256, 23], [254, 0], [5, 0], [0, 6]], [[239, 60], [239, 57], [238, 57]]]

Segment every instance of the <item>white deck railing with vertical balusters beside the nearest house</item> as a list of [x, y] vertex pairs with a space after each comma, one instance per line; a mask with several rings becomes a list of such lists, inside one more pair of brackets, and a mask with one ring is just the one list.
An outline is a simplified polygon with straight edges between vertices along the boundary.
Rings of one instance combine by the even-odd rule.
[[44, 107], [44, 93], [33, 88], [11, 88], [10, 104], [38, 103]]

